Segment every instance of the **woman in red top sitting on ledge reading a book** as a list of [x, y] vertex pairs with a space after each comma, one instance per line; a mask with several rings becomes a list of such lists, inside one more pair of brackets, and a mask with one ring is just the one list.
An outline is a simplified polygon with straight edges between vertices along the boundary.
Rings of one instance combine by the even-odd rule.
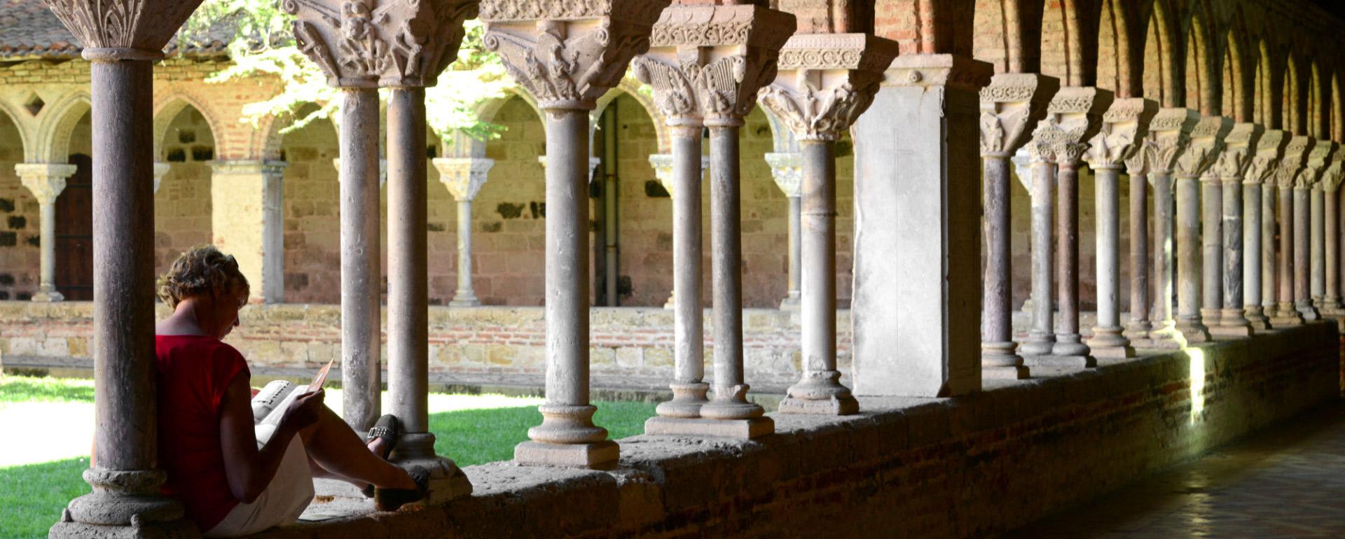
[[221, 341], [238, 325], [247, 293], [238, 262], [213, 246], [183, 253], [159, 280], [174, 309], [155, 337], [164, 493], [182, 500], [206, 536], [295, 522], [313, 499], [313, 476], [354, 483], [382, 511], [422, 499], [425, 469], [385, 460], [399, 430], [391, 415], [366, 445], [319, 390], [295, 398], [274, 431], [254, 430], [247, 363]]

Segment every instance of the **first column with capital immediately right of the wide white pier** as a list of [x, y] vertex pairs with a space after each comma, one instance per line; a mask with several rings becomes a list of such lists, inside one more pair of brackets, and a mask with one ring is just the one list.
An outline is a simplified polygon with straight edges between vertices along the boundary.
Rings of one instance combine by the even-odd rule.
[[982, 290], [982, 378], [1030, 376], [1013, 341], [1009, 157], [1032, 138], [1028, 128], [1046, 116], [1046, 106], [1057, 90], [1059, 79], [1030, 73], [998, 74], [990, 79], [990, 86], [981, 90], [982, 207], [989, 229]]

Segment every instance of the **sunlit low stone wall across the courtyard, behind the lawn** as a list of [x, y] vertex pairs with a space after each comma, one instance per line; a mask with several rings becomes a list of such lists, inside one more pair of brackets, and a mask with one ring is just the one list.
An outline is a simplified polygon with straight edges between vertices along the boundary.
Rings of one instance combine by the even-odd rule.
[[[666, 388], [672, 374], [672, 310], [593, 308], [589, 358], [597, 387]], [[252, 305], [226, 341], [256, 368], [315, 370], [340, 356], [340, 306]], [[159, 305], [159, 317], [168, 308]], [[706, 372], [713, 372], [713, 335], [706, 312]], [[850, 371], [850, 316], [839, 313], [841, 370]], [[90, 358], [93, 304], [0, 301], [0, 362], [44, 364], [50, 358]], [[799, 315], [746, 309], [746, 380], [783, 391], [802, 374]], [[541, 386], [546, 371], [546, 323], [541, 306], [429, 309], [429, 364], [437, 383]], [[386, 345], [383, 355], [386, 356]], [[336, 376], [334, 376], [335, 379]]]

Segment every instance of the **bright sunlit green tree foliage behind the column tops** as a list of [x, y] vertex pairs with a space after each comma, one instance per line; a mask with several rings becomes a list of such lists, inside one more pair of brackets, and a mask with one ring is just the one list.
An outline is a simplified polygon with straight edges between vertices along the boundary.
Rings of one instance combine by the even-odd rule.
[[[206, 0], [178, 39], [203, 43], [229, 36], [231, 63], [206, 82], [276, 81], [278, 91], [272, 98], [243, 106], [243, 121], [256, 126], [265, 117], [288, 120], [281, 129], [286, 133], [315, 120], [335, 121], [334, 113], [340, 106], [339, 90], [327, 85], [327, 75], [295, 44], [292, 20], [276, 0]], [[455, 133], [479, 140], [499, 136], [503, 128], [480, 121], [476, 109], [484, 101], [504, 97], [514, 86], [499, 56], [482, 46], [480, 22], [467, 22], [457, 62], [444, 70], [437, 86], [425, 89], [426, 121], [445, 141], [452, 141]], [[381, 93], [386, 97], [386, 90]]]

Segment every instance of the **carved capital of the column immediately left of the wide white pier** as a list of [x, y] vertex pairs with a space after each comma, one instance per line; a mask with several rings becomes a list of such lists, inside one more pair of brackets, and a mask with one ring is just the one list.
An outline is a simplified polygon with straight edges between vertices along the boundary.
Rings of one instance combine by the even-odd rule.
[[814, 65], [781, 62], [775, 82], [761, 89], [761, 105], [799, 140], [837, 140], [873, 103], [884, 77], [873, 66], [890, 65], [897, 43], [866, 34], [800, 34], [780, 54], [800, 50], [835, 54], [818, 55]]

